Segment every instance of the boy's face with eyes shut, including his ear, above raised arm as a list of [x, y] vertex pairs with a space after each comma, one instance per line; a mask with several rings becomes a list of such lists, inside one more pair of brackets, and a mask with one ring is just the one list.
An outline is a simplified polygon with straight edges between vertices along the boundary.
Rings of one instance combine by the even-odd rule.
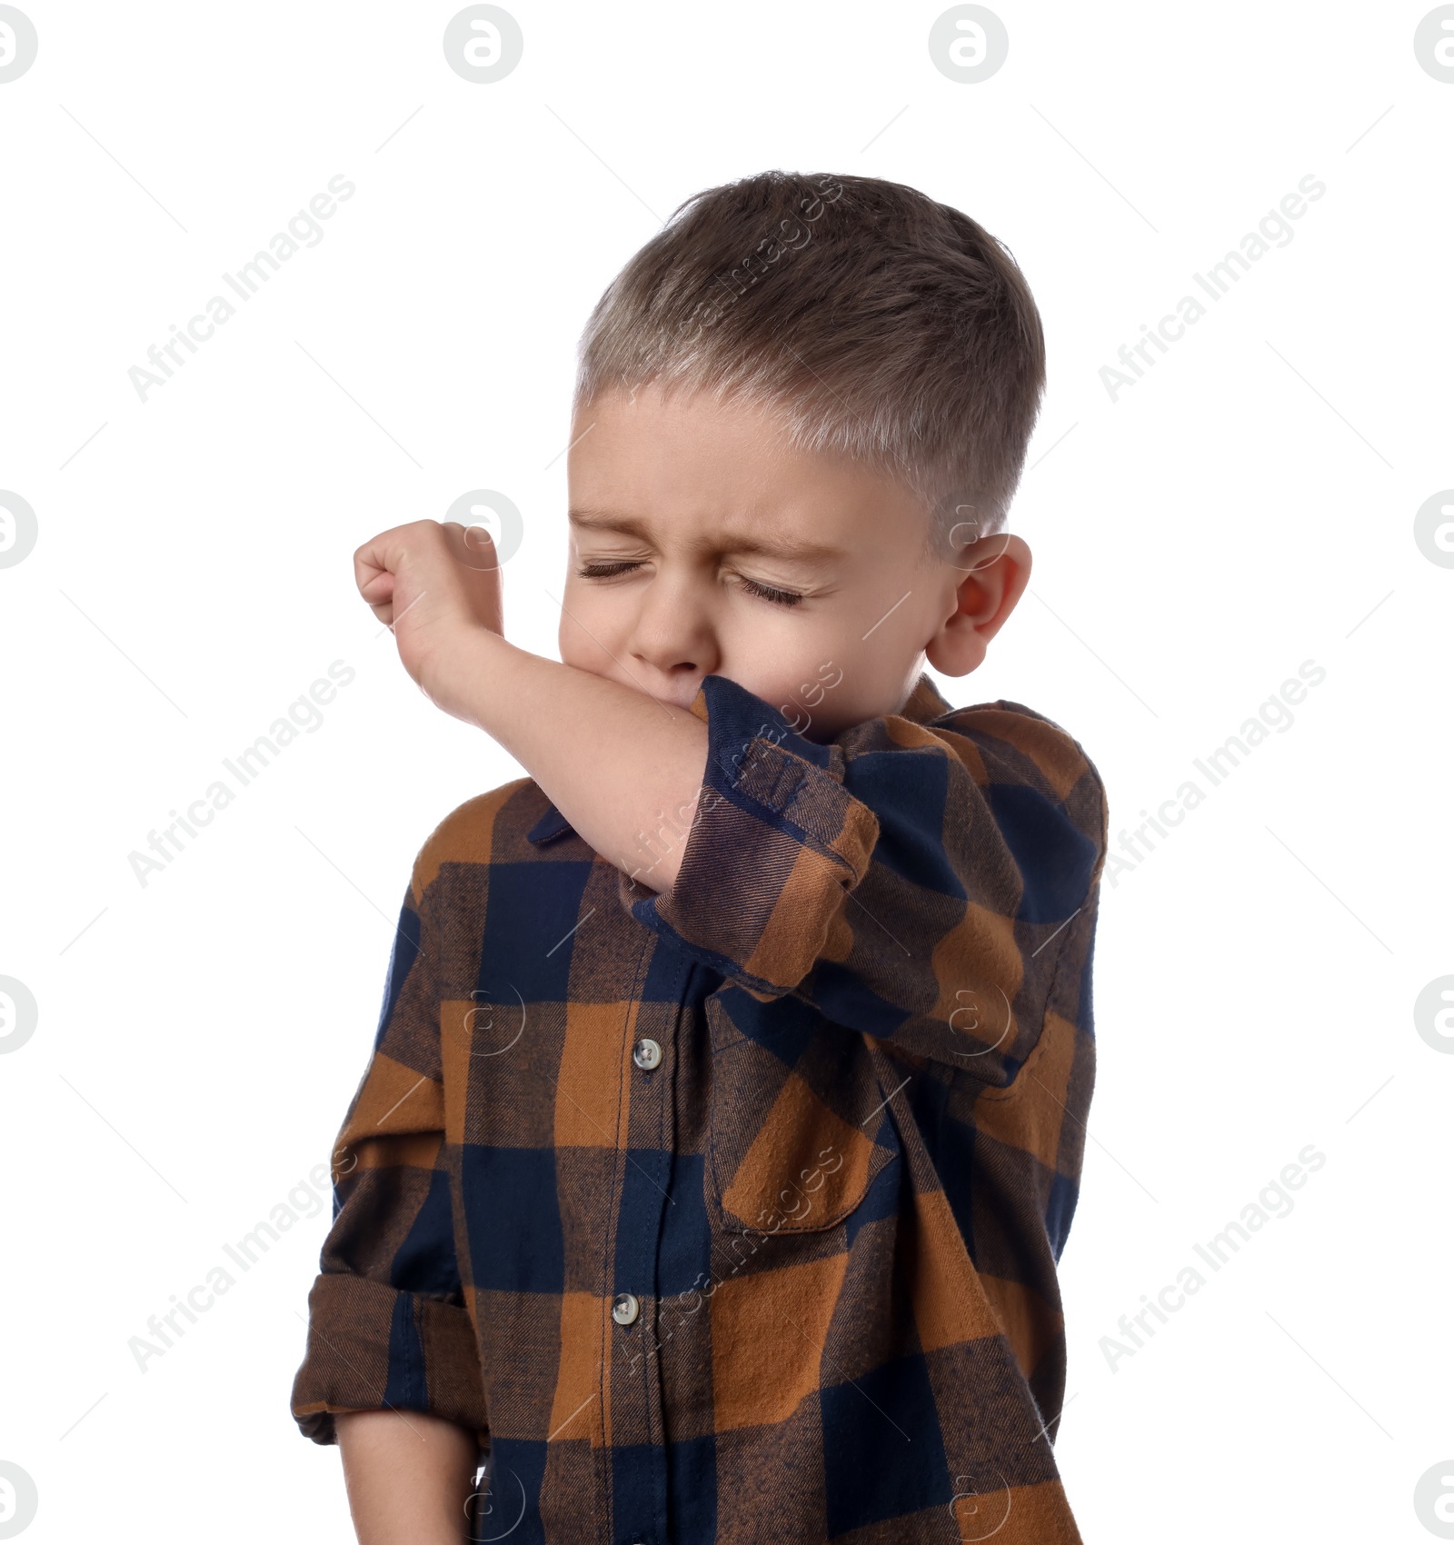
[[828, 740], [898, 712], [926, 655], [972, 671], [1029, 578], [1017, 536], [926, 558], [907, 488], [740, 403], [610, 392], [570, 439], [561, 658], [664, 703], [723, 675]]

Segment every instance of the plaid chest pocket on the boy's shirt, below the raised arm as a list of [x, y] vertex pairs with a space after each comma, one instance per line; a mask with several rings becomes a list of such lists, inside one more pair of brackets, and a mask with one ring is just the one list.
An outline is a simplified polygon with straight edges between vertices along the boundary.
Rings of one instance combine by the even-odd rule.
[[794, 1023], [788, 1003], [735, 997], [752, 1034], [717, 995], [706, 1000], [706, 1187], [715, 1222], [737, 1233], [831, 1228], [899, 1154], [890, 1091], [881, 1088], [862, 1035]]

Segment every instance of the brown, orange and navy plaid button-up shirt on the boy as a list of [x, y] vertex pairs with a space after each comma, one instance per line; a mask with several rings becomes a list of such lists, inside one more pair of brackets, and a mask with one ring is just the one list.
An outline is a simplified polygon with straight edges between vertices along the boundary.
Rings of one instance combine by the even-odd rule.
[[720, 675], [691, 711], [669, 896], [530, 779], [420, 850], [294, 1417], [473, 1429], [515, 1545], [1074, 1545], [1100, 777], [927, 675], [830, 745]]

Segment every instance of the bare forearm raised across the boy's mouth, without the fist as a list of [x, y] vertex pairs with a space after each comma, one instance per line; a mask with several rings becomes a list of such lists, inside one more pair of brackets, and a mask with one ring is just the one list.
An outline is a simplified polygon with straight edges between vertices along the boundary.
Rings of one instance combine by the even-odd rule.
[[604, 859], [668, 891], [706, 771], [706, 725], [644, 692], [465, 633], [430, 692], [498, 740]]

